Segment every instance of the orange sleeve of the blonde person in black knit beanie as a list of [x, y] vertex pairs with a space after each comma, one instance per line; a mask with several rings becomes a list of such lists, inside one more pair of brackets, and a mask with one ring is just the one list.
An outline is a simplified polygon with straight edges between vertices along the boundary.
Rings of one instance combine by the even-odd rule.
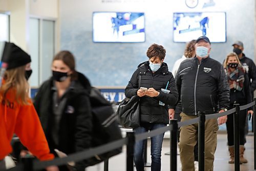
[[32, 102], [30, 101], [29, 103], [29, 105], [19, 107], [14, 132], [22, 144], [39, 160], [51, 160], [54, 158], [54, 155], [50, 154], [45, 133], [36, 110]]

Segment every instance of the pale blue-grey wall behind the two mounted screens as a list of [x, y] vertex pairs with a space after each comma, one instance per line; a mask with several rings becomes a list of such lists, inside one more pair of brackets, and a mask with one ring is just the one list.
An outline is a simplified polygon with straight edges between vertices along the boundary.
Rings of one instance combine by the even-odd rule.
[[[139, 63], [146, 61], [146, 50], [153, 44], [166, 49], [165, 62], [172, 70], [181, 58], [185, 43], [173, 42], [173, 12], [226, 12], [226, 43], [212, 43], [211, 58], [222, 62], [236, 40], [244, 42], [244, 53], [254, 59], [254, 0], [214, 0], [215, 6], [188, 8], [180, 0], [60, 0], [61, 50], [76, 57], [77, 70], [94, 86], [126, 86]], [[93, 43], [94, 11], [145, 12], [144, 43]]]

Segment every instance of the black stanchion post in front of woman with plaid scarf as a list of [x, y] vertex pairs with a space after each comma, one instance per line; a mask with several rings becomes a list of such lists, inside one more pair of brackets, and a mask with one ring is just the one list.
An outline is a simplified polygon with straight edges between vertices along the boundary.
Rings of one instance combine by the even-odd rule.
[[236, 112], [234, 113], [234, 170], [240, 170], [240, 149], [239, 149], [239, 104], [234, 104]]

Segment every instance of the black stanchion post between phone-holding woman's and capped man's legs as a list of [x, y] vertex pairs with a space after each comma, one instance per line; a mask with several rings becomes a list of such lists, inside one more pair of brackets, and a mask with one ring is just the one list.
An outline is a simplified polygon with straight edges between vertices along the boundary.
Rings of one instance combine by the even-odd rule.
[[170, 120], [170, 171], [177, 171], [178, 120]]

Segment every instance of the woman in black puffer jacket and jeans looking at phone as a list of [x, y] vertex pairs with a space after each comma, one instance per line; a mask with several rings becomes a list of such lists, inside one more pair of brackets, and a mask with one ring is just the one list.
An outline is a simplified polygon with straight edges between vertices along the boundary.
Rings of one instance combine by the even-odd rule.
[[[165, 49], [161, 45], [151, 45], [146, 55], [148, 61], [139, 64], [133, 73], [131, 80], [125, 88], [125, 96], [140, 97], [140, 126], [134, 128], [135, 134], [151, 131], [164, 127], [173, 116], [168, 115], [168, 105], [175, 105], [178, 93], [173, 74], [168, 71], [164, 63]], [[146, 91], [139, 87], [139, 75], [141, 75], [140, 86], [147, 88]], [[161, 88], [169, 90], [164, 93]], [[160, 105], [159, 101], [164, 104]], [[164, 134], [151, 137], [151, 170], [161, 170], [161, 150]], [[135, 143], [134, 163], [137, 171], [144, 170], [143, 148], [147, 140]], [[146, 156], [145, 156], [146, 157]]]

